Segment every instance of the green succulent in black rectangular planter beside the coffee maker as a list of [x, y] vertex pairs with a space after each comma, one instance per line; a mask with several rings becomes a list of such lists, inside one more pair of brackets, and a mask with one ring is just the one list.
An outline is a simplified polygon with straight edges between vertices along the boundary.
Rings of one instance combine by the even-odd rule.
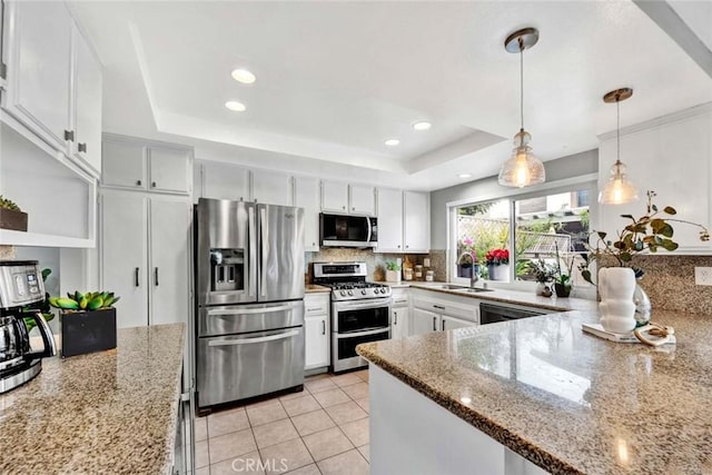
[[116, 348], [116, 308], [120, 297], [112, 291], [79, 290], [67, 297], [50, 297], [61, 309], [62, 356], [83, 355]]

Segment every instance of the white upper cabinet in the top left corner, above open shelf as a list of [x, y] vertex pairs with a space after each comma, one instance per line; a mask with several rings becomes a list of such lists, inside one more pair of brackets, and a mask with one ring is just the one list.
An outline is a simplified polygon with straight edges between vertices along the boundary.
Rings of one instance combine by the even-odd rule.
[[101, 63], [63, 1], [4, 6], [8, 58], [2, 107], [33, 137], [99, 177]]

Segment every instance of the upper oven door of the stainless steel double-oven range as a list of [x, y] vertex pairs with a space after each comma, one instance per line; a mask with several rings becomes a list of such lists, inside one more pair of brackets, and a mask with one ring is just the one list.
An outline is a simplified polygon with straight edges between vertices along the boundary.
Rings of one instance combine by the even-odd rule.
[[336, 301], [332, 315], [332, 331], [338, 334], [390, 328], [390, 298]]

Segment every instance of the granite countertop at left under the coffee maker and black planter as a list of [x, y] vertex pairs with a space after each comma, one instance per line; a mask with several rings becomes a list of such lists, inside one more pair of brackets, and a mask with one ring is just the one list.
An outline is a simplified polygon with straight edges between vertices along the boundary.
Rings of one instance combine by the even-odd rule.
[[117, 348], [44, 358], [0, 395], [0, 473], [169, 473], [185, 325], [118, 330]]

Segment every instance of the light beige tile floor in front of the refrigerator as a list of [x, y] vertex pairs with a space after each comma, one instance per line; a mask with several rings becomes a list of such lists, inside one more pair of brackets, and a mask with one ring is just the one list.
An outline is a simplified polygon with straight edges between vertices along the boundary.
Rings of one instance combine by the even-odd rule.
[[196, 418], [196, 475], [368, 474], [368, 370]]

